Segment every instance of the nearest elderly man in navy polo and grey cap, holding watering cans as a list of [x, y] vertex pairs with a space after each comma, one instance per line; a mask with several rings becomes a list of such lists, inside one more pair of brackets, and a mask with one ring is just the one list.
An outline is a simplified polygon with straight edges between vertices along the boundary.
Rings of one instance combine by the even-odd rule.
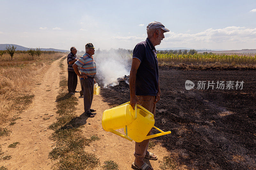
[[[156, 115], [156, 103], [160, 100], [160, 87], [158, 81], [158, 61], [156, 45], [164, 39], [164, 33], [169, 32], [160, 22], [151, 22], [147, 26], [148, 38], [138, 43], [133, 49], [132, 68], [130, 71], [130, 104], [140, 104]], [[152, 129], [148, 132], [151, 135]], [[135, 142], [135, 161], [132, 167], [143, 170], [153, 170], [144, 158], [157, 160], [157, 156], [147, 151], [149, 139], [140, 143]]]

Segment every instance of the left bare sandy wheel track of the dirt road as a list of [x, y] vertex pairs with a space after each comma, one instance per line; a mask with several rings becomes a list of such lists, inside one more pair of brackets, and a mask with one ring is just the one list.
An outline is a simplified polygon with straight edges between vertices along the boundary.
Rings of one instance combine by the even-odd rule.
[[[60, 59], [54, 61], [44, 75], [39, 77], [42, 80], [39, 80], [37, 83], [41, 84], [33, 89], [35, 95], [33, 103], [20, 114], [21, 119], [9, 128], [12, 131], [11, 136], [1, 138], [2, 150], [12, 156], [10, 160], [2, 160], [3, 166], [8, 169], [43, 170], [50, 169], [54, 163], [48, 159], [48, 154], [53, 147], [53, 141], [49, 139], [53, 130], [48, 129], [48, 126], [57, 116], [55, 100], [60, 81], [59, 61]], [[16, 148], [8, 148], [8, 145], [13, 142], [20, 142], [20, 144]]]

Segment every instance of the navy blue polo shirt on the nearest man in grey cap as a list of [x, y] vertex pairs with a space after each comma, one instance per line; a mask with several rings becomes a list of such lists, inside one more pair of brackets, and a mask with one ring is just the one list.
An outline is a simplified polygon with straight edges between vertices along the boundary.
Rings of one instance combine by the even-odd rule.
[[156, 48], [147, 38], [133, 49], [132, 58], [140, 60], [136, 74], [135, 94], [137, 96], [156, 96], [158, 92], [158, 61]]

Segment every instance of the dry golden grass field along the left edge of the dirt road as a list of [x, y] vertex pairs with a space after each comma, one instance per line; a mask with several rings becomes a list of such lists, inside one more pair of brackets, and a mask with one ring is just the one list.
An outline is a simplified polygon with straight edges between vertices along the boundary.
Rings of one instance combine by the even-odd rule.
[[14, 57], [14, 61], [6, 61], [9, 60], [6, 54], [1, 57], [5, 60], [0, 63], [0, 128], [2, 129], [8, 122], [14, 122], [15, 117], [32, 102], [34, 95], [31, 88], [36, 85], [38, 76], [42, 75], [49, 63], [63, 56], [62, 53], [42, 54], [36, 61], [21, 61], [24, 55], [16, 54], [19, 57]]

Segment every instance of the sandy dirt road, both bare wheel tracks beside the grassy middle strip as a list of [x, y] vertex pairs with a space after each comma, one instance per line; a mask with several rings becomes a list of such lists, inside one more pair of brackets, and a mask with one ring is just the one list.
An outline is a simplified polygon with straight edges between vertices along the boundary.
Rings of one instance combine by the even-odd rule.
[[[12, 131], [11, 136], [2, 137], [0, 142], [2, 150], [6, 154], [11, 155], [9, 160], [2, 160], [1, 164], [8, 169], [51, 169], [55, 162], [48, 158], [48, 153], [54, 147], [53, 141], [49, 139], [52, 130], [48, 126], [55, 122], [55, 100], [59, 91], [59, 60], [50, 65], [44, 76], [38, 78], [38, 86], [34, 88], [35, 98], [31, 107], [25, 110], [21, 115], [21, 119], [16, 121], [14, 126], [9, 129]], [[64, 68], [67, 67], [66, 60], [63, 61]], [[65, 74], [67, 76], [67, 73]], [[97, 80], [96, 80], [97, 81]], [[78, 82], [77, 90], [80, 90], [80, 82]], [[113, 160], [119, 165], [120, 170], [132, 169], [131, 164], [134, 161], [134, 144], [110, 132], [105, 132], [101, 126], [101, 119], [104, 110], [110, 108], [100, 95], [94, 95], [92, 108], [96, 109], [94, 118], [83, 116], [84, 105], [83, 98], [79, 97], [79, 93], [75, 96], [78, 98], [77, 121], [84, 125], [83, 133], [86, 137], [97, 135], [100, 140], [92, 142], [90, 146], [86, 146], [85, 150], [94, 153], [100, 158], [100, 164], [103, 165], [105, 160]], [[48, 114], [48, 115], [47, 115]], [[49, 118], [49, 119], [48, 119]], [[46, 119], [46, 120], [45, 120]], [[48, 119], [48, 120], [47, 120]], [[120, 130], [121, 132], [121, 130]], [[16, 148], [8, 148], [9, 144], [20, 142]], [[155, 149], [150, 149], [158, 156], [157, 161], [145, 161], [155, 169], [160, 169], [160, 161], [168, 152], [161, 145], [157, 144]], [[100, 166], [97, 169], [101, 169]]]

